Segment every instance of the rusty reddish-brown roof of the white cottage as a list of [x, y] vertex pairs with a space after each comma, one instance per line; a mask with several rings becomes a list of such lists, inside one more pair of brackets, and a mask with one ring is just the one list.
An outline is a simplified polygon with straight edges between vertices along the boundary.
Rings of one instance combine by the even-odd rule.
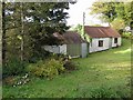
[[111, 27], [84, 27], [85, 33], [88, 33], [91, 38], [117, 38], [121, 37], [120, 33], [112, 29]]

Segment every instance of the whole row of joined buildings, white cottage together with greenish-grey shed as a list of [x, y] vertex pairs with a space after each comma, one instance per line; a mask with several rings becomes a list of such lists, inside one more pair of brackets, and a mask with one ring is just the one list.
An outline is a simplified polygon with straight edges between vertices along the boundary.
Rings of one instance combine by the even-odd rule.
[[81, 38], [75, 31], [66, 31], [63, 34], [53, 33], [59, 40], [63, 40], [63, 44], [44, 46], [44, 50], [71, 56], [72, 58], [85, 58], [88, 53], [106, 50], [121, 46], [121, 36], [111, 27], [90, 27], [84, 26], [85, 38], [90, 38], [90, 42]]

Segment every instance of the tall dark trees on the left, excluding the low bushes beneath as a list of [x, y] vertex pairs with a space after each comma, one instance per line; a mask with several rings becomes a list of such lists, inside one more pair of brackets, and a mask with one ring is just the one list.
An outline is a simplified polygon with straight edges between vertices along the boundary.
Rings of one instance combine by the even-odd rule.
[[[62, 33], [69, 29], [65, 24], [65, 19], [69, 17], [64, 12], [64, 9], [69, 9], [69, 3], [23, 4], [22, 8], [21, 3], [6, 3], [4, 31], [8, 54], [27, 59], [28, 56], [31, 57], [33, 53], [41, 54], [41, 47], [49, 41], [54, 43], [50, 38], [53, 32]], [[49, 38], [49, 41], [47, 38]]]

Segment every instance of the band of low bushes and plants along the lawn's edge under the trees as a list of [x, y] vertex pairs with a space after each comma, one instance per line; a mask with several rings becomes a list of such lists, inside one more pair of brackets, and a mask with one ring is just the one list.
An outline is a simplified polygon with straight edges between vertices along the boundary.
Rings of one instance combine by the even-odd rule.
[[[35, 58], [30, 62], [11, 59], [3, 67], [3, 84], [21, 86], [33, 77], [53, 79], [55, 76], [76, 70], [78, 66], [63, 54], [49, 53], [48, 58]], [[28, 79], [24, 79], [27, 74]], [[24, 81], [25, 80], [25, 81]]]

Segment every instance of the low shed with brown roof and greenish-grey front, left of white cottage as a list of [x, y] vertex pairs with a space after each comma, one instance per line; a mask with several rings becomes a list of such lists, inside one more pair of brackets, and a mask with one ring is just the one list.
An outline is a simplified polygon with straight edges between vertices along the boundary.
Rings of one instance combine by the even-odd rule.
[[78, 57], [86, 57], [88, 54], [88, 47], [86, 42], [80, 37], [80, 34], [75, 31], [66, 31], [62, 36], [59, 33], [53, 33], [60, 40], [63, 40], [63, 44], [59, 46], [44, 46], [44, 50], [54, 52], [54, 53], [62, 53], [71, 56], [72, 58]]

